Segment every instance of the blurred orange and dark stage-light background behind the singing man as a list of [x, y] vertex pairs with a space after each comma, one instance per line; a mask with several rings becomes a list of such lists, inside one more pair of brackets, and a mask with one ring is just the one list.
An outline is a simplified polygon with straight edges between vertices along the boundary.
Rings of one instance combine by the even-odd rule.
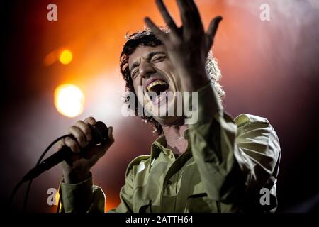
[[[165, 1], [180, 24], [175, 1]], [[56, 4], [57, 21], [48, 21]], [[319, 2], [196, 0], [207, 28], [223, 16], [213, 53], [225, 88], [225, 110], [268, 118], [281, 142], [278, 212], [318, 211]], [[269, 21], [260, 19], [269, 5]], [[116, 143], [93, 168], [106, 210], [119, 204], [125, 169], [149, 154], [156, 135], [138, 117], [123, 117], [125, 84], [118, 68], [125, 33], [150, 16], [164, 25], [154, 1], [1, 1], [1, 203], [52, 140], [94, 116], [114, 128]], [[62, 87], [61, 87], [62, 86]], [[51, 153], [55, 152], [52, 148]], [[51, 154], [50, 153], [50, 154]], [[33, 182], [30, 212], [52, 212], [47, 190], [59, 165]], [[26, 185], [13, 209], [21, 211]]]

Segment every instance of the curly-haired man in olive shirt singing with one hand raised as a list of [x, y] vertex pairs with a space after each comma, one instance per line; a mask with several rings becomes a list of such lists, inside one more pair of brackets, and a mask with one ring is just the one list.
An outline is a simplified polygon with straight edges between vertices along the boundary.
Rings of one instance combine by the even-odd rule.
[[[133, 109], [147, 109], [141, 117], [159, 137], [150, 155], [128, 165], [121, 204], [111, 212], [273, 212], [281, 152], [274, 128], [259, 116], [225, 113], [220, 71], [211, 55], [222, 18], [213, 18], [205, 32], [194, 1], [177, 4], [181, 27], [158, 0], [168, 29], [145, 18], [148, 28], [129, 35], [123, 47], [121, 73], [138, 100]], [[177, 96], [167, 99], [169, 92], [189, 92], [183, 101], [193, 114], [177, 114]], [[132, 108], [129, 97], [126, 102]], [[155, 114], [162, 105], [174, 114]], [[196, 121], [188, 121], [194, 115]], [[72, 161], [62, 163], [62, 212], [104, 211], [106, 198], [93, 185], [90, 169], [113, 144], [113, 128], [107, 143], [89, 150], [86, 158], [79, 155], [91, 140], [89, 124], [95, 123], [92, 117], [77, 121], [69, 128], [76, 140], [59, 143], [59, 149], [68, 146], [74, 152]]]

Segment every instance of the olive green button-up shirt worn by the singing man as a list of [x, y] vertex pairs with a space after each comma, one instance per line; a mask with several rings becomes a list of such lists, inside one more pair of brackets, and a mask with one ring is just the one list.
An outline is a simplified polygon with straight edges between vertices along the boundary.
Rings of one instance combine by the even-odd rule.
[[[281, 151], [274, 128], [266, 118], [250, 114], [233, 119], [220, 101], [215, 102], [216, 114], [207, 116], [211, 87], [198, 90], [198, 121], [184, 133], [186, 152], [176, 157], [164, 135], [159, 136], [150, 155], [128, 165], [121, 204], [109, 212], [276, 210]], [[269, 192], [268, 200], [262, 189]], [[61, 182], [60, 198], [62, 212], [104, 212], [107, 202], [92, 177], [79, 184]]]

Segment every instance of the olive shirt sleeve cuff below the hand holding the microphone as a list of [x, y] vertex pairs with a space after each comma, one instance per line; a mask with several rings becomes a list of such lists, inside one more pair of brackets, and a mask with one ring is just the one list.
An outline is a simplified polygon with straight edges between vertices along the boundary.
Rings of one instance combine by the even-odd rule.
[[92, 176], [78, 184], [60, 183], [60, 213], [103, 213], [105, 195]]

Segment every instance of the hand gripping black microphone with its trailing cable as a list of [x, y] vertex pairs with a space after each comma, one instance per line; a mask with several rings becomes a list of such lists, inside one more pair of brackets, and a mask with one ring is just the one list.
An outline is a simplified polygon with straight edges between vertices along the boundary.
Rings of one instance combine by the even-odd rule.
[[[60, 162], [62, 162], [65, 183], [84, 181], [89, 177], [91, 167], [105, 155], [106, 150], [114, 143], [113, 128], [108, 128], [101, 121], [96, 122], [92, 117], [86, 118], [84, 121], [77, 121], [74, 126], [69, 128], [69, 133], [54, 140], [45, 149], [37, 165], [16, 184], [10, 195], [9, 209], [19, 187], [23, 182], [28, 181], [29, 184], [23, 202], [23, 211], [25, 211], [33, 179]], [[57, 152], [43, 160], [47, 151], [55, 143], [58, 143]]]

